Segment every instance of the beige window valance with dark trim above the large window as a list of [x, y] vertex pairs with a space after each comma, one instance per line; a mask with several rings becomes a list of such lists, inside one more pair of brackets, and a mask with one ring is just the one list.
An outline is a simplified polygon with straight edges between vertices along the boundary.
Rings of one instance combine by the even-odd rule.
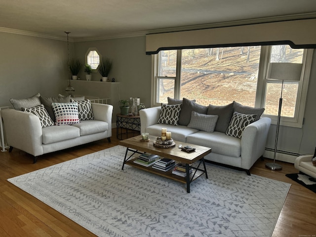
[[316, 19], [279, 21], [146, 35], [146, 54], [160, 50], [289, 44], [316, 48]]

